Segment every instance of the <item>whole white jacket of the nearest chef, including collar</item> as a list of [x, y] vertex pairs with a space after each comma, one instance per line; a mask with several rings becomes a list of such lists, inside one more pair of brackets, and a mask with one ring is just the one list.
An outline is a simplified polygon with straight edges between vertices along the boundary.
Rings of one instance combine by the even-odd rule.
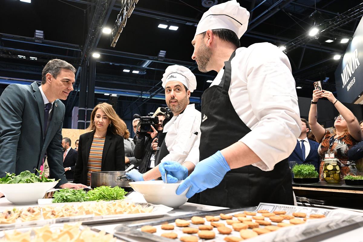
[[[289, 59], [277, 46], [265, 42], [238, 48], [231, 67], [228, 94], [234, 110], [252, 130], [239, 141], [261, 158], [252, 165], [271, 171], [291, 154], [301, 134]], [[211, 86], [220, 84], [223, 73], [221, 69]]]

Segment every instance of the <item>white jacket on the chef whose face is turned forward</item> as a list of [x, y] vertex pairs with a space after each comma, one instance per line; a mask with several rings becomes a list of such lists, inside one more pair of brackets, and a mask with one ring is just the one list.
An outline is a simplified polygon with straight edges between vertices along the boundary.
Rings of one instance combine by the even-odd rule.
[[[176, 142], [172, 145], [169, 154], [160, 162], [169, 160], [183, 164], [185, 161], [191, 161], [195, 165], [199, 162], [200, 117], [195, 114], [186, 114], [183, 114], [178, 122]], [[194, 132], [198, 132], [198, 135]]]

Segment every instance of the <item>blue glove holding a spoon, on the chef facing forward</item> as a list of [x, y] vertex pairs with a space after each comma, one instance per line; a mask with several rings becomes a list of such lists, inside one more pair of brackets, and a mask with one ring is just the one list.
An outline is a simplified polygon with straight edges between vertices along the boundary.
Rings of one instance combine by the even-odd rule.
[[188, 169], [179, 162], [176, 161], [166, 161], [159, 164], [159, 171], [161, 173], [161, 178], [165, 182], [165, 171], [168, 179], [168, 183], [176, 183], [179, 180], [184, 180], [188, 176]]

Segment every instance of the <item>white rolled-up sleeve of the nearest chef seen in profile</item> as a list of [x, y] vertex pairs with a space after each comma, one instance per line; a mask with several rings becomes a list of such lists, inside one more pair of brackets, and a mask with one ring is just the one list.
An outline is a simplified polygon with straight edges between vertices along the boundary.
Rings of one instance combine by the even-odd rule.
[[289, 59], [272, 44], [254, 48], [245, 70], [241, 75], [258, 123], [239, 141], [261, 158], [252, 165], [271, 171], [291, 154], [301, 133], [295, 80]]

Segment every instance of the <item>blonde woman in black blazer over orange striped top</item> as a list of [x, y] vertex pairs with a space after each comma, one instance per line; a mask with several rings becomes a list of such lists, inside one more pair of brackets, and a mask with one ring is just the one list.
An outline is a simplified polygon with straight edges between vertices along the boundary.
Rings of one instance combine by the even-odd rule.
[[90, 132], [79, 136], [74, 181], [90, 185], [90, 172], [124, 171], [123, 136], [129, 131], [108, 103], [99, 103], [91, 113]]

